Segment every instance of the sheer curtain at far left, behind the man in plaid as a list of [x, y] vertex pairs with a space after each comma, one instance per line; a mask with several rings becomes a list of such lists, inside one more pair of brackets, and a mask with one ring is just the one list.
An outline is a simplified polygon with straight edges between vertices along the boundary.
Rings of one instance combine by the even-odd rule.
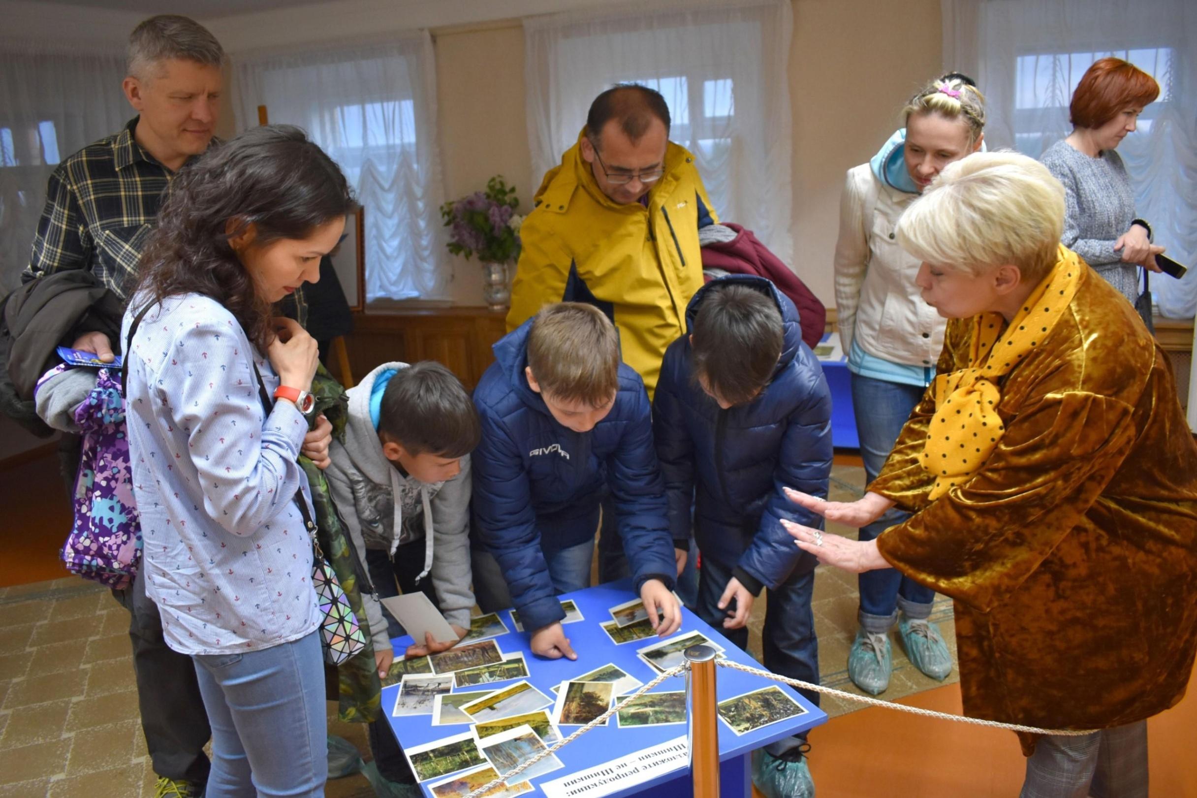
[[50, 172], [135, 115], [123, 79], [121, 50], [0, 43], [0, 296], [29, 266]]

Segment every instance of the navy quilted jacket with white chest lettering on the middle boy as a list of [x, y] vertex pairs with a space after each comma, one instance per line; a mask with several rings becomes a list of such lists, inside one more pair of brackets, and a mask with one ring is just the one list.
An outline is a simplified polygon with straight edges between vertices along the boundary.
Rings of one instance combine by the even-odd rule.
[[494, 345], [474, 390], [482, 440], [472, 455], [474, 535], [499, 561], [529, 632], [565, 616], [545, 553], [594, 538], [608, 488], [637, 592], [648, 579], [672, 589], [676, 572], [644, 382], [620, 364], [607, 418], [585, 433], [563, 427], [524, 377], [534, 321]]

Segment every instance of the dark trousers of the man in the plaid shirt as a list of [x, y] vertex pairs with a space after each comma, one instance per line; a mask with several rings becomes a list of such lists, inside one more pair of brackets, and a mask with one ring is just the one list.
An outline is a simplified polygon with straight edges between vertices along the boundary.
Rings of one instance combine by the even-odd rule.
[[212, 736], [195, 677], [195, 663], [166, 646], [158, 605], [145, 591], [141, 574], [113, 596], [129, 611], [133, 670], [138, 681], [141, 730], [153, 772], [176, 781], [203, 785], [211, 762], [203, 747]]

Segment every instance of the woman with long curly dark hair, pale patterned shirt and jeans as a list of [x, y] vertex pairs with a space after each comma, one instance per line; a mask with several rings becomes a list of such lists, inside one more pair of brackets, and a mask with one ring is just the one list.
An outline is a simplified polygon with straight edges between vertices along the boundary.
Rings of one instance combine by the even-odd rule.
[[175, 179], [124, 316], [142, 573], [166, 644], [195, 660], [209, 798], [323, 796], [321, 614], [296, 462], [316, 342], [272, 307], [318, 279], [354, 207], [302, 130], [248, 130]]

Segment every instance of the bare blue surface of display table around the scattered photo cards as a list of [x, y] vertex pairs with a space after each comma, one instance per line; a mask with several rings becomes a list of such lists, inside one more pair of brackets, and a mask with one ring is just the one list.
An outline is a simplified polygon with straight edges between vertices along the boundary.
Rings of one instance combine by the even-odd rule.
[[[637, 598], [637, 596], [632, 592], [631, 580], [625, 579], [607, 585], [600, 585], [597, 587], [590, 587], [589, 590], [582, 590], [575, 593], [566, 593], [561, 596], [561, 598], [572, 598], [585, 617], [584, 621], [565, 626], [566, 636], [570, 638], [573, 650], [578, 653], [578, 659], [575, 662], [569, 659], [540, 659], [535, 657], [528, 647], [528, 634], [515, 632], [515, 625], [511, 622], [510, 613], [499, 613], [499, 617], [502, 617], [503, 622], [508, 625], [511, 633], [496, 638], [496, 642], [498, 642], [499, 648], [502, 648], [504, 653], [515, 653], [517, 651], [522, 651], [524, 653], [524, 659], [528, 664], [528, 681], [531, 682], [533, 686], [552, 698], [553, 693], [549, 688], [555, 687], [566, 680], [581, 676], [590, 670], [594, 670], [595, 668], [606, 665], [607, 663], [614, 663], [645, 684], [656, 677], [656, 671], [636, 656], [636, 650], [651, 645], [657, 640], [657, 638], [616, 646], [610, 641], [607, 634], [598, 628], [601, 622], [610, 620], [610, 615], [607, 613], [608, 608]], [[709, 627], [699, 620], [697, 615], [685, 608], [682, 608], [681, 628], [682, 632], [701, 632], [713, 642], [725, 648], [723, 653], [728, 659], [733, 659], [746, 665], [759, 666], [746, 652], [734, 646], [725, 638], [723, 638], [723, 635]], [[401, 653], [408, 645], [411, 645], [411, 638], [396, 638], [394, 640], [394, 645], [395, 652]], [[514, 683], [514, 681], [498, 682], [493, 687], [503, 688]], [[792, 688], [759, 676], [753, 676], [751, 674], [731, 670], [729, 668], [719, 668], [717, 671], [717, 684], [719, 701], [736, 695], [742, 695], [745, 693], [751, 693], [762, 687], [777, 684], [789, 695], [794, 696], [798, 703], [807, 709], [806, 714], [778, 721], [739, 737], [735, 732], [728, 729], [727, 724], [722, 720], [718, 721], [719, 760], [722, 761], [721, 787], [723, 790], [723, 794], [731, 797], [745, 796], [747, 798], [752, 794], [752, 767], [748, 755], [762, 745], [782, 739], [783, 737], [806, 731], [813, 726], [818, 726], [827, 720], [827, 715], [818, 707], [813, 706], [809, 701], [803, 699]], [[656, 693], [682, 689], [685, 689], [685, 680], [682, 677], [676, 677], [666, 680], [660, 686], [654, 688], [652, 692]], [[395, 705], [397, 690], [397, 684], [383, 688], [382, 708], [387, 713], [387, 720], [390, 723], [391, 729], [395, 730], [395, 737], [399, 739], [401, 745], [406, 748], [423, 745], [444, 737], [458, 735], [467, 729], [466, 726], [433, 726], [431, 715], [391, 717], [390, 711]], [[561, 729], [561, 735], [566, 736], [575, 731], [575, 726], [565, 726]], [[542, 781], [559, 779], [570, 773], [584, 770], [596, 765], [602, 765], [603, 762], [609, 762], [610, 760], [619, 759], [645, 748], [651, 748], [675, 737], [683, 736], [686, 732], [687, 726], [685, 724], [648, 726], [639, 729], [619, 729], [615, 718], [612, 717], [609, 725], [593, 729], [573, 743], [558, 749], [557, 756], [565, 765], [565, 768], [558, 769], [553, 773], [547, 773], [537, 779], [533, 779], [533, 786], [536, 786]], [[432, 782], [435, 781], [437, 781], [437, 779], [432, 780]], [[425, 782], [425, 794], [431, 796], [426, 786], [427, 784], [431, 782]], [[687, 767], [681, 767], [652, 781], [638, 784], [634, 787], [610, 794], [630, 796], [645, 792], [648, 790], [652, 791], [654, 798], [692, 796], [693, 790], [691, 785], [689, 769]]]

